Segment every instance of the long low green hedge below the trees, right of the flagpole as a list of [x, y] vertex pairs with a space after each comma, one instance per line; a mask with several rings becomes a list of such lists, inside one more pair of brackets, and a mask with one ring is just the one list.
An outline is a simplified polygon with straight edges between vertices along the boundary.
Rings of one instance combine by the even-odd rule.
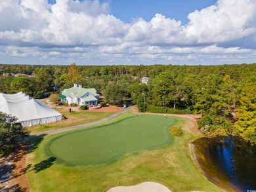
[[169, 107], [159, 107], [159, 106], [147, 106], [147, 112], [151, 113], [169, 113], [169, 114], [191, 114], [189, 109], [172, 109]]

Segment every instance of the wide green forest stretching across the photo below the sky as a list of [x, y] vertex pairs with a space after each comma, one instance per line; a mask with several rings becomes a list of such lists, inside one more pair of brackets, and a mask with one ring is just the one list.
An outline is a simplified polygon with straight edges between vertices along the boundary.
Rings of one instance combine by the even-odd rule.
[[[40, 66], [0, 64], [0, 92], [41, 98], [74, 83], [102, 92], [109, 104], [140, 111], [202, 114], [205, 136], [256, 142], [256, 64], [219, 66]], [[15, 75], [14, 75], [15, 74]], [[17, 75], [18, 74], [18, 75]], [[149, 77], [148, 84], [140, 78]], [[55, 89], [56, 90], [56, 89]], [[144, 94], [144, 96], [142, 95]]]

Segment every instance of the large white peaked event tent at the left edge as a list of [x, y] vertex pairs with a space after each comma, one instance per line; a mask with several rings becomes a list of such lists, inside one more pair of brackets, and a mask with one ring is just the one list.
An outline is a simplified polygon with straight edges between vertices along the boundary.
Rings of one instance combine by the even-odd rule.
[[63, 119], [58, 111], [24, 94], [24, 92], [0, 93], [0, 111], [17, 117], [17, 122], [22, 123], [22, 126], [53, 123]]

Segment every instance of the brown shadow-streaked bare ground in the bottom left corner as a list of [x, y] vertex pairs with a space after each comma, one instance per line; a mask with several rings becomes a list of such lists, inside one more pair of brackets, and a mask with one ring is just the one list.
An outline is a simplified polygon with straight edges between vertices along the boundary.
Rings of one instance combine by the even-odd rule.
[[0, 191], [30, 191], [26, 175], [26, 145], [20, 144], [17, 153], [0, 159]]

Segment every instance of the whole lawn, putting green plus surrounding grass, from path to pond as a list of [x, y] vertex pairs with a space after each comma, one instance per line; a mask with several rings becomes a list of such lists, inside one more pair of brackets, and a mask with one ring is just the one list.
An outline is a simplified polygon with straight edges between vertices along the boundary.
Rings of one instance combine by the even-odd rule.
[[[34, 144], [37, 140], [43, 139], [43, 141], [27, 158], [27, 174], [31, 189], [32, 191], [106, 191], [117, 185], [135, 185], [151, 181], [159, 182], [171, 191], [221, 191], [207, 181], [190, 158], [188, 143], [196, 136], [184, 132], [182, 137], [173, 138], [169, 134], [168, 126], [173, 124], [179, 126], [184, 123], [183, 121], [173, 117], [163, 119], [162, 115], [135, 117], [129, 112], [100, 126], [45, 136], [45, 138], [34, 138]], [[154, 136], [150, 136], [153, 130]], [[100, 141], [98, 138], [102, 136], [106, 137], [103, 139], [104, 142], [97, 144]], [[139, 136], [141, 138], [137, 140]], [[61, 147], [64, 140], [68, 144], [66, 147]], [[79, 147], [79, 150], [76, 153], [71, 152], [73, 150], [70, 149], [71, 145]], [[80, 165], [71, 165], [76, 158], [70, 159], [70, 156], [79, 155], [83, 149], [89, 150], [87, 147], [92, 145], [96, 147], [95, 154], [105, 150], [100, 148], [106, 148], [108, 153], [104, 156], [108, 158], [102, 160], [100, 155], [98, 157], [95, 155], [93, 158], [97, 161], [97, 165], [88, 165], [92, 164], [92, 161], [81, 161], [81, 159], [75, 162]], [[58, 147], [60, 151], [57, 150]], [[87, 151], [83, 158], [86, 158], [87, 153], [93, 152]], [[109, 155], [112, 153], [116, 154]]]

